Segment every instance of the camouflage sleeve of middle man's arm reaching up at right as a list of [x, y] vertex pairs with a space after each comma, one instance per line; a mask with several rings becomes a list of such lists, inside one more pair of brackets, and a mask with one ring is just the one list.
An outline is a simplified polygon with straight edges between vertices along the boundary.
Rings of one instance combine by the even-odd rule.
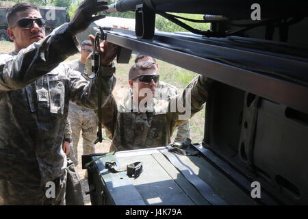
[[[174, 127], [182, 125], [203, 109], [213, 80], [198, 75], [180, 94], [171, 96], [168, 105], [168, 120]], [[181, 107], [182, 106], [182, 107]]]

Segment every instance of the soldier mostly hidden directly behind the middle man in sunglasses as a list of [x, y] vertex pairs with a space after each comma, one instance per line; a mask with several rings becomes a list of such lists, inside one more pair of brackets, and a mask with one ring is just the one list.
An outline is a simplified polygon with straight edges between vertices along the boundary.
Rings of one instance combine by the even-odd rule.
[[[156, 62], [155, 58], [141, 53], [136, 56], [135, 63], [146, 62], [146, 61], [155, 63], [155, 66], [158, 71], [158, 63]], [[175, 86], [172, 86], [171, 84], [166, 83], [164, 81], [158, 81], [157, 91], [159, 92], [155, 92], [156, 99], [162, 99], [162, 98], [168, 99], [170, 96], [175, 96], [179, 94], [179, 90]], [[186, 138], [190, 138], [189, 120], [183, 123], [183, 125], [179, 125], [177, 127], [177, 136], [175, 137], [175, 142], [185, 142]]]

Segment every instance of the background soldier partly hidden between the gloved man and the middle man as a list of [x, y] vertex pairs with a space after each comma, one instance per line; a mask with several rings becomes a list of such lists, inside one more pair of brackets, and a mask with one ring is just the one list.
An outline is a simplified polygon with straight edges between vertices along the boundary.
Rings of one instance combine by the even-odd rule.
[[[80, 59], [68, 62], [68, 66], [70, 66], [70, 68], [79, 71], [79, 73], [81, 73], [81, 75], [88, 81], [90, 81], [90, 79], [88, 75], [84, 73], [84, 65], [86, 64], [86, 58], [91, 52], [92, 44], [90, 40], [84, 40], [84, 42], [81, 43]], [[72, 129], [74, 148], [70, 152], [70, 158], [73, 160], [75, 166], [77, 166], [80, 131], [82, 131], [83, 138], [83, 155], [95, 153], [94, 141], [97, 139], [97, 117], [95, 116], [93, 110], [70, 102], [68, 107], [68, 118], [70, 120], [70, 127]]]

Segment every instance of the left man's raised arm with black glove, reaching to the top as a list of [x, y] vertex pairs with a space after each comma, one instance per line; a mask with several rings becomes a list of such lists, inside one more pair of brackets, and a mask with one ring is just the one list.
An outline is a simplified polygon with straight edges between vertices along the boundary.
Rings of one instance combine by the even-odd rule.
[[44, 39], [34, 42], [17, 55], [0, 55], [0, 91], [17, 90], [49, 73], [60, 62], [79, 51], [75, 34], [84, 31], [103, 16], [92, 16], [106, 9], [106, 1], [85, 0], [70, 23], [58, 27]]

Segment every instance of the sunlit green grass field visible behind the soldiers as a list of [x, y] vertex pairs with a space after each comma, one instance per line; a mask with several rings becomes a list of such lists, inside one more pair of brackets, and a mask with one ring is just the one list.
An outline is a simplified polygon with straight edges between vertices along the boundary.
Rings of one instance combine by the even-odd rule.
[[[9, 53], [10, 51], [14, 51], [14, 44], [12, 42], [0, 41], [0, 53]], [[68, 57], [65, 62], [70, 60], [75, 60], [79, 58], [79, 54]], [[129, 68], [133, 64], [133, 60], [135, 56], [131, 57], [129, 64], [116, 64], [116, 78], [118, 83], [123, 84], [123, 86], [127, 85], [128, 81], [128, 72]], [[172, 64], [168, 64], [162, 60], [157, 60], [159, 64], [159, 74], [160, 79], [166, 83], [170, 83], [180, 90], [185, 88], [185, 86], [190, 83], [190, 81], [196, 77], [196, 73], [193, 73], [189, 70], [185, 70], [178, 66], [174, 66]], [[190, 136], [192, 138], [192, 142], [201, 142], [204, 136], [204, 120], [205, 120], [205, 110], [201, 110], [197, 114], [195, 114], [190, 119]], [[175, 139], [176, 132], [172, 136], [172, 140]]]

